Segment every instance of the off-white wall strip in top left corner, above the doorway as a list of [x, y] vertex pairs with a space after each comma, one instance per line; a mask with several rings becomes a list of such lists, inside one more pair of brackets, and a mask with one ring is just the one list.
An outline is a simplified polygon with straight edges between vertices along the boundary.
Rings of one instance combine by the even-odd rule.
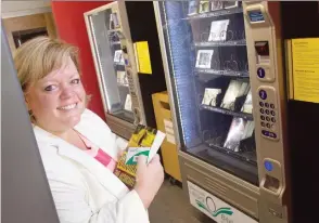
[[51, 1], [1, 1], [1, 17], [16, 17], [51, 12]]

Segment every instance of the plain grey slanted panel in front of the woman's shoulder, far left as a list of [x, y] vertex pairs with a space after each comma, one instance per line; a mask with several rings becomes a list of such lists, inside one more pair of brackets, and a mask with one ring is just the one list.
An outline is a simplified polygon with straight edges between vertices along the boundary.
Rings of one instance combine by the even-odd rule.
[[21, 84], [1, 26], [1, 220], [58, 223]]

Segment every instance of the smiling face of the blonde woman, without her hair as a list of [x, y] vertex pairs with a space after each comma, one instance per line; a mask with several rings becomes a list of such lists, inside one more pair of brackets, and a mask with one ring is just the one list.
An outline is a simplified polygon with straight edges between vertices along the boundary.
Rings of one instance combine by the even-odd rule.
[[31, 84], [25, 99], [36, 124], [50, 132], [72, 129], [86, 108], [86, 91], [71, 58]]

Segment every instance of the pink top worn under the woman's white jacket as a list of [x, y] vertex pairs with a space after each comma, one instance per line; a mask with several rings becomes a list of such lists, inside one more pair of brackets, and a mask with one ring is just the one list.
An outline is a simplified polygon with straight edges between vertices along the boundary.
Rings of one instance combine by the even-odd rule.
[[106, 167], [109, 170], [114, 172], [114, 169], [116, 167], [116, 161], [109, 156], [103, 149], [95, 146], [93, 143], [91, 143], [87, 137], [78, 133], [80, 139], [84, 141], [86, 146], [88, 147], [88, 150], [86, 153], [90, 155], [91, 157], [94, 157], [99, 162], [101, 162], [104, 167]]

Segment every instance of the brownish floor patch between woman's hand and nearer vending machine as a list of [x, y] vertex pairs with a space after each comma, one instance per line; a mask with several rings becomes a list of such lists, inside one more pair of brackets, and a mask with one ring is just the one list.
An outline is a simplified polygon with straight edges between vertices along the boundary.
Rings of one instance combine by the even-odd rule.
[[165, 180], [149, 209], [151, 223], [214, 223], [193, 208], [182, 188]]

